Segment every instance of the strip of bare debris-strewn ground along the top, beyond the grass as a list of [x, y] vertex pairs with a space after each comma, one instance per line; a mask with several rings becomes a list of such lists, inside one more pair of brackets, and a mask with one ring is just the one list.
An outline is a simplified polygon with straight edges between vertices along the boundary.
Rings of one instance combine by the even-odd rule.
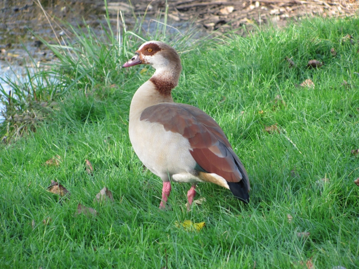
[[[168, 0], [167, 3], [166, 7], [165, 0], [114, 0], [108, 1], [108, 10], [112, 17], [121, 12], [130, 24], [135, 16], [146, 14], [146, 18], [156, 18], [167, 8], [170, 24], [194, 23], [202, 30], [221, 32], [268, 22], [283, 26], [288, 19], [300, 20], [303, 16], [353, 16], [359, 10], [358, 0]], [[55, 37], [48, 19], [59, 18], [79, 26], [86, 22], [96, 28], [104, 14], [104, 1], [4, 0], [0, 3], [0, 46], [19, 42], [18, 37], [29, 30]], [[60, 26], [61, 23], [53, 24], [58, 34]]]

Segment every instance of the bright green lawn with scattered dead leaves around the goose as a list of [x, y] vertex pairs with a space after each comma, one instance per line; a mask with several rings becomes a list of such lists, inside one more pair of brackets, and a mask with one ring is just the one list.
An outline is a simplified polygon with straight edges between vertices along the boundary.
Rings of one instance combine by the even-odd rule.
[[[347, 34], [353, 44], [342, 40]], [[318, 269], [359, 268], [359, 187], [353, 183], [359, 159], [351, 154], [359, 147], [358, 37], [359, 19], [311, 19], [206, 40], [189, 51], [178, 43], [183, 71], [174, 99], [220, 124], [252, 187], [244, 206], [228, 190], [200, 184], [197, 199], [206, 202], [189, 213], [188, 184], [174, 183], [172, 209], [158, 209], [161, 181], [143, 169], [128, 139], [131, 97], [153, 70], [119, 66], [141, 41], [106, 58], [105, 45], [86, 48], [81, 42], [89, 37], [74, 37], [86, 58], [60, 59], [67, 89], [54, 95], [60, 109], [36, 132], [0, 146], [0, 268], [159, 269], [165, 252], [168, 268], [176, 269], [302, 268], [300, 261], [310, 258]], [[286, 57], [297, 67], [289, 68]], [[312, 59], [325, 65], [308, 69]], [[305, 79], [315, 88], [298, 87]], [[277, 95], [285, 104], [275, 104]], [[264, 130], [275, 123], [280, 133]], [[55, 155], [59, 167], [44, 165]], [[325, 177], [328, 183], [316, 182]], [[71, 192], [69, 200], [46, 191], [52, 179]], [[114, 203], [94, 204], [104, 186]], [[79, 203], [98, 216], [75, 217]], [[206, 227], [175, 226], [184, 220]]]

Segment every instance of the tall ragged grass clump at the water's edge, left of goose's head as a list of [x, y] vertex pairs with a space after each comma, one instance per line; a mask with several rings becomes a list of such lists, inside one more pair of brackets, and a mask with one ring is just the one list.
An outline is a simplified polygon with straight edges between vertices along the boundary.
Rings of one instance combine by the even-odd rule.
[[[146, 14], [137, 18], [131, 30], [126, 30], [122, 15], [118, 16], [117, 28], [113, 29], [107, 10], [106, 15], [106, 25], [101, 25], [100, 34], [84, 22], [82, 28], [68, 24], [66, 35], [51, 43], [39, 36], [44, 45], [53, 51], [56, 60], [42, 68], [33, 62], [33, 72], [27, 69], [27, 77], [23, 80], [2, 79], [12, 89], [10, 92], [0, 89], [0, 101], [5, 105], [2, 112], [5, 120], [0, 123], [3, 141], [8, 142], [13, 136], [21, 137], [28, 130], [35, 130], [40, 121], [52, 118], [51, 112], [58, 103], [69, 111], [68, 116], [76, 119], [85, 120], [94, 111], [98, 115], [101, 113], [97, 109], [101, 98], [105, 95], [108, 98], [109, 94], [115, 93], [111, 90], [115, 85], [122, 87], [130, 79], [120, 72], [120, 63], [132, 57], [133, 48], [151, 39], [180, 48], [190, 43], [194, 33], [169, 31], [171, 27], [167, 26], [166, 12], [158, 15], [153, 32], [143, 31]], [[163, 23], [161, 16], [164, 16]], [[133, 70], [129, 72], [134, 73]], [[77, 94], [79, 98], [70, 98], [68, 103], [64, 101], [69, 99], [68, 96]], [[68, 107], [77, 109], [70, 110]]]

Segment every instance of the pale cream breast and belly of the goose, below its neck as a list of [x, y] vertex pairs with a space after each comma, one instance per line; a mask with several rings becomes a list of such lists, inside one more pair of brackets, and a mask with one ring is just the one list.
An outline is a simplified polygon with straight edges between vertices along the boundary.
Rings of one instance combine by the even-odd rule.
[[163, 102], [173, 102], [173, 99], [159, 94], [150, 81], [134, 94], [128, 125], [133, 149], [143, 164], [163, 181], [172, 178], [180, 182], [204, 182], [193, 175], [196, 161], [189, 152], [188, 139], [166, 131], [160, 123], [140, 120], [147, 107]]

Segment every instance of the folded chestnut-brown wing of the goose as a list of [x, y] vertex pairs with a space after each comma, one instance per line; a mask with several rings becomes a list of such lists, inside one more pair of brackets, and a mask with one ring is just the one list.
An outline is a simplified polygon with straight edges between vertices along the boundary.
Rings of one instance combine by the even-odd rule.
[[179, 103], [162, 103], [145, 109], [140, 120], [162, 124], [166, 131], [188, 139], [191, 155], [207, 173], [215, 173], [228, 182], [249, 180], [238, 156], [217, 122], [202, 110]]

